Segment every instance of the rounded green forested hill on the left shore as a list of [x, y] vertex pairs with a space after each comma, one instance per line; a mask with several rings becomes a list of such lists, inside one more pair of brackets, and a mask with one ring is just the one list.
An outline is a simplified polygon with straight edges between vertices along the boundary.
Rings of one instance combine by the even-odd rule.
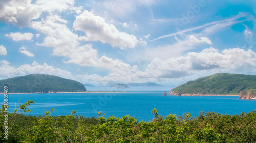
[[75, 80], [46, 74], [30, 74], [0, 80], [0, 87], [8, 87], [9, 93], [83, 92], [84, 85]]

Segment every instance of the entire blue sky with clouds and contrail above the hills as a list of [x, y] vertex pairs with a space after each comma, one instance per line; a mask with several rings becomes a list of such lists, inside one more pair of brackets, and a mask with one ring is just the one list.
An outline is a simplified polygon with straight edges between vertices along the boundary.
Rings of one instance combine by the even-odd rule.
[[256, 1], [2, 0], [0, 79], [179, 85], [256, 75]]

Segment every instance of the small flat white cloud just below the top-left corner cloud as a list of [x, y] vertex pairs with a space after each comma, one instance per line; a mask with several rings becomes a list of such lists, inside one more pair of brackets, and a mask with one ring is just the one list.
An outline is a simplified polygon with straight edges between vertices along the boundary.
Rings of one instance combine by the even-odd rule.
[[30, 41], [33, 38], [32, 33], [10, 33], [6, 34], [6, 37], [11, 37], [13, 41], [22, 41], [22, 40], [27, 40]]

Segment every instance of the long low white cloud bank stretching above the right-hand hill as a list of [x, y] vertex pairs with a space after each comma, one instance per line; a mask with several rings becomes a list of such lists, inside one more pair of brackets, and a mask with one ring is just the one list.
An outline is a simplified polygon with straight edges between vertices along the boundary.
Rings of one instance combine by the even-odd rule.
[[[184, 83], [187, 80], [194, 80], [198, 77], [218, 73], [240, 73], [248, 74], [256, 71], [256, 53], [252, 50], [245, 51], [241, 48], [218, 50], [206, 48], [201, 52], [188, 52], [184, 56], [161, 60], [153, 59], [147, 64], [143, 71], [138, 71], [136, 66], [117, 65], [110, 58], [103, 57], [101, 62], [108, 66], [119, 66], [120, 71], [110, 73], [108, 76], [99, 75], [77, 75], [76, 79], [82, 83], [95, 85], [129, 82], [162, 82]], [[118, 62], [117, 62], [118, 63]], [[126, 69], [127, 68], [127, 69]], [[123, 73], [123, 71], [129, 71]]]

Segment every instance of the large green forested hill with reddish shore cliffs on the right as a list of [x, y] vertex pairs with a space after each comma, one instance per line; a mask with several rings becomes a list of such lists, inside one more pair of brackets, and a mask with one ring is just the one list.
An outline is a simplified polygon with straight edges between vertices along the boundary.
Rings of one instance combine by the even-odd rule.
[[256, 89], [256, 75], [217, 73], [187, 81], [170, 92], [176, 94], [238, 94]]

